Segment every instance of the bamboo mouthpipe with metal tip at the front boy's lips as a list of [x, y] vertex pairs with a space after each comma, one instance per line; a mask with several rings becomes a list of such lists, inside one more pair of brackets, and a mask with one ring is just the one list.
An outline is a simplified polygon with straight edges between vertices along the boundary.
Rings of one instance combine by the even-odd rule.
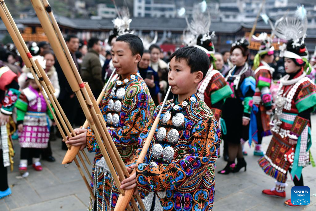
[[[159, 113], [156, 116], [155, 121], [153, 122], [153, 125], [150, 128], [148, 136], [147, 136], [147, 138], [145, 140], [145, 143], [143, 145], [143, 149], [142, 149], [142, 151], [139, 154], [139, 157], [137, 159], [137, 163], [143, 163], [143, 161], [145, 159], [146, 153], [148, 151], [148, 148], [149, 148], [149, 145], [151, 143], [151, 140], [152, 140], [152, 138], [153, 138], [153, 136], [155, 134], [155, 130], [156, 130], [157, 126], [158, 126], [162, 109], [163, 109], [163, 107], [164, 107], [164, 105], [165, 105], [165, 103], [167, 101], [167, 97], [169, 95], [170, 90], [171, 90], [171, 86], [169, 86], [169, 88], [167, 90], [166, 97], [165, 97], [164, 101], [162, 102], [161, 109], [159, 110]], [[135, 173], [135, 172], [136, 172], [136, 169], [134, 169], [132, 171], [132, 174]], [[125, 208], [127, 206], [127, 203], [131, 200], [133, 192], [134, 192], [134, 189], [129, 189], [129, 190], [125, 191], [125, 196], [119, 195], [119, 198], [118, 198], [118, 201], [116, 202], [114, 211], [123, 211], [123, 210], [125, 210]]]

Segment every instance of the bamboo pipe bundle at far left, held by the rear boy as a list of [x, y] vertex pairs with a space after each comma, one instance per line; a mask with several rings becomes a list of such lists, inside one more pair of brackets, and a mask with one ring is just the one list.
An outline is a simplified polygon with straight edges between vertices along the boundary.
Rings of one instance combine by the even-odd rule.
[[[51, 107], [51, 104], [50, 104], [50, 102], [48, 101], [48, 99], [47, 99], [47, 97], [46, 97], [46, 93], [49, 93], [49, 92], [48, 92], [48, 89], [47, 89], [47, 86], [43, 86], [44, 88], [46, 88], [46, 91], [44, 91], [44, 90], [42, 89], [42, 86], [41, 86], [41, 83], [40, 83], [40, 81], [43, 81], [43, 83], [45, 84], [44, 78], [42, 77], [42, 75], [46, 75], [46, 73], [45, 73], [44, 70], [43, 70], [43, 73], [44, 73], [44, 74], [43, 74], [43, 73], [40, 74], [40, 71], [39, 71], [39, 69], [38, 69], [38, 66], [36, 65], [35, 61], [33, 60], [31, 53], [28, 51], [28, 48], [27, 48], [27, 46], [26, 46], [26, 44], [25, 44], [25, 42], [24, 42], [24, 40], [23, 40], [23, 38], [22, 38], [22, 36], [21, 36], [21, 34], [20, 34], [20, 31], [19, 31], [18, 28], [16, 27], [16, 24], [15, 24], [15, 22], [14, 22], [12, 16], [11, 16], [11, 14], [9, 13], [9, 10], [8, 10], [8, 8], [6, 7], [4, 1], [1, 1], [0, 16], [1, 16], [1, 19], [3, 20], [3, 23], [5, 24], [6, 28], [8, 29], [8, 32], [9, 32], [9, 34], [10, 34], [12, 40], [14, 40], [14, 44], [15, 44], [15, 46], [17, 47], [17, 49], [18, 49], [18, 51], [19, 51], [19, 53], [20, 53], [20, 55], [21, 55], [21, 57], [22, 57], [24, 63], [27, 65], [27, 67], [30, 68], [31, 73], [33, 74], [33, 77], [34, 77], [34, 79], [35, 79], [35, 82], [36, 82], [36, 84], [39, 86], [40, 91], [41, 91], [41, 93], [43, 94], [43, 97], [44, 97], [44, 99], [45, 99], [45, 101], [46, 101], [46, 104], [47, 104], [47, 106], [48, 106], [48, 109], [51, 111], [51, 113], [52, 113], [52, 115], [53, 115], [53, 118], [54, 118], [54, 120], [55, 120], [55, 122], [56, 122], [56, 125], [57, 125], [58, 129], [61, 131], [61, 133], [62, 133], [62, 135], [63, 135], [63, 138], [66, 138], [66, 136], [65, 136], [64, 133], [62, 132], [63, 130], [62, 130], [62, 127], [60, 126], [60, 123], [59, 123], [59, 121], [58, 121], [58, 118], [56, 117], [55, 113], [53, 112], [52, 107]], [[38, 63], [38, 65], [39, 65], [39, 63]], [[39, 67], [40, 67], [40, 65], [39, 65]], [[37, 76], [39, 76], [39, 79], [40, 79], [40, 80], [36, 77], [36, 73], [37, 73]], [[50, 89], [52, 90], [52, 91], [51, 91], [51, 94], [54, 96], [54, 94], [53, 94], [54, 90], [52, 89], [51, 83], [50, 83], [49, 87], [50, 87]], [[48, 96], [49, 96], [49, 95], [48, 95]], [[51, 101], [52, 101], [52, 100], [51, 100]], [[54, 109], [56, 110], [57, 107], [54, 107]], [[82, 159], [81, 159], [81, 160], [82, 160]], [[82, 162], [83, 162], [83, 160], [82, 160]], [[84, 176], [84, 173], [83, 173], [83, 171], [82, 171], [82, 169], [81, 169], [81, 167], [80, 167], [80, 165], [79, 165], [77, 159], [75, 159], [75, 163], [76, 163], [76, 165], [77, 165], [77, 167], [78, 167], [78, 170], [79, 170], [79, 172], [80, 172], [80, 174], [81, 174], [81, 176], [82, 176], [82, 178], [83, 178], [85, 184], [87, 185], [87, 188], [88, 188], [88, 190], [89, 190], [89, 192], [90, 192], [90, 194], [91, 194], [91, 197], [92, 197], [92, 198], [95, 198], [95, 196], [94, 196], [94, 194], [93, 194], [93, 192], [92, 192], [92, 189], [90, 188], [89, 183], [88, 183], [86, 177]], [[85, 166], [84, 162], [83, 162], [82, 164]], [[85, 167], [85, 169], [87, 169], [87, 168]], [[90, 175], [89, 172], [87, 172], [87, 173], [88, 173], [88, 175]]]

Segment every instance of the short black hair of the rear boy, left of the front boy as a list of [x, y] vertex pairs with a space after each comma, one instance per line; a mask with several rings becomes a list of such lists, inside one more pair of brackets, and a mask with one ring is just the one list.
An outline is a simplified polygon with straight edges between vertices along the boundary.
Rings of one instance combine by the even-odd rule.
[[129, 44], [132, 55], [139, 54], [143, 56], [144, 46], [142, 40], [134, 34], [124, 34], [116, 39], [116, 42], [126, 42]]

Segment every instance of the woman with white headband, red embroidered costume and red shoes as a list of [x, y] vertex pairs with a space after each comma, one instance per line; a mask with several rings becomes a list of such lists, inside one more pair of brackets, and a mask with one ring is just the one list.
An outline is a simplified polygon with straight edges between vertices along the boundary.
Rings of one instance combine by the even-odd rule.
[[[303, 42], [289, 40], [284, 51], [284, 66], [288, 75], [280, 79], [276, 97], [276, 112], [271, 124], [272, 140], [258, 163], [264, 172], [276, 179], [274, 189], [263, 190], [268, 196], [285, 197], [287, 173], [295, 186], [304, 186], [302, 169], [310, 164], [310, 114], [316, 108], [316, 86], [306, 77], [304, 67], [307, 49]], [[309, 68], [308, 68], [309, 69]], [[291, 199], [284, 202], [294, 205]]]

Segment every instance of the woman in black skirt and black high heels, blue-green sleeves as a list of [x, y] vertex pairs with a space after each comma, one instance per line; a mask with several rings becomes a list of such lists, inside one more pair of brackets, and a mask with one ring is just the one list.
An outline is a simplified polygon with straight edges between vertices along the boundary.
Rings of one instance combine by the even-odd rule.
[[[245, 167], [246, 161], [243, 158], [241, 142], [248, 139], [249, 120], [252, 96], [255, 91], [254, 73], [246, 62], [249, 55], [247, 46], [249, 43], [243, 38], [233, 43], [230, 50], [231, 61], [234, 67], [228, 72], [225, 78], [231, 87], [233, 94], [227, 98], [222, 109], [222, 118], [225, 120], [227, 134], [223, 134], [223, 139], [228, 142], [228, 163], [219, 174], [229, 174], [238, 172]], [[235, 166], [235, 159], [237, 165]]]

